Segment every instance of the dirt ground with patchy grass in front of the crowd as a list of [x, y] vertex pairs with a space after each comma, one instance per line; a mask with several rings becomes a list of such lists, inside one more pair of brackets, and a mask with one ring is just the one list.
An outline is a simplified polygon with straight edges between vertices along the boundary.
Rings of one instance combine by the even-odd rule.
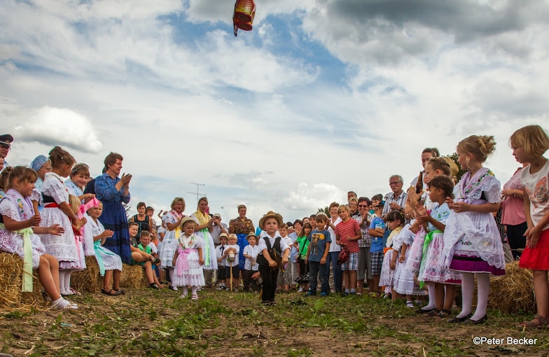
[[[4, 309], [0, 348], [13, 356], [548, 356], [549, 330], [520, 332], [527, 316], [490, 311], [483, 325], [417, 316], [404, 304], [331, 295], [208, 290], [200, 300], [162, 290], [74, 297], [80, 309]], [[482, 341], [474, 337], [499, 338]], [[508, 337], [536, 339], [508, 344]]]

